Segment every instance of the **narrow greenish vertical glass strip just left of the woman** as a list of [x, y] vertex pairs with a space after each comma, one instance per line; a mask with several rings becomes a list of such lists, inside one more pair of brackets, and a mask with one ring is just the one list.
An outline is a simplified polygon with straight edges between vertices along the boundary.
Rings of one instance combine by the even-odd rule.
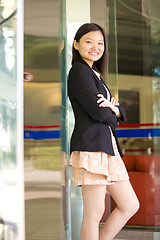
[[66, 29], [66, 1], [61, 0], [61, 27], [60, 27], [60, 70], [62, 84], [61, 105], [61, 138], [62, 138], [62, 174], [63, 174], [63, 222], [65, 239], [71, 240], [71, 198], [70, 198], [70, 168], [68, 149], [68, 96], [67, 96], [67, 29]]

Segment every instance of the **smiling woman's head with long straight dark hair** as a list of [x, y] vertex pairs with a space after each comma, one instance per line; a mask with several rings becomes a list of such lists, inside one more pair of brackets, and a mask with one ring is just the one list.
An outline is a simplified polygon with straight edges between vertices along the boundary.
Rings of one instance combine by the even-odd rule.
[[104, 75], [108, 64], [107, 38], [104, 30], [94, 23], [82, 25], [74, 37], [72, 53], [72, 64], [85, 61], [91, 68]]

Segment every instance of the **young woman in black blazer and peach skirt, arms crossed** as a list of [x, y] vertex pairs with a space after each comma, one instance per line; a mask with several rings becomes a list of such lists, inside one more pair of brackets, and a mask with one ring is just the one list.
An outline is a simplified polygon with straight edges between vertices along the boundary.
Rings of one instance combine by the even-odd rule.
[[[121, 159], [115, 129], [125, 110], [101, 79], [107, 67], [104, 31], [94, 23], [82, 25], [73, 42], [68, 94], [75, 115], [70, 164], [74, 184], [81, 186], [83, 220], [81, 240], [111, 240], [139, 208]], [[99, 233], [107, 191], [117, 207]]]

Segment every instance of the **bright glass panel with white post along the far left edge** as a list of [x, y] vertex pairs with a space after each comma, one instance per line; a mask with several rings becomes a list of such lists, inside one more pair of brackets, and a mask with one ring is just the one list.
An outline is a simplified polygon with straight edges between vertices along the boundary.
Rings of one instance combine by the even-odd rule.
[[23, 1], [0, 1], [0, 239], [3, 240], [24, 239], [22, 15]]

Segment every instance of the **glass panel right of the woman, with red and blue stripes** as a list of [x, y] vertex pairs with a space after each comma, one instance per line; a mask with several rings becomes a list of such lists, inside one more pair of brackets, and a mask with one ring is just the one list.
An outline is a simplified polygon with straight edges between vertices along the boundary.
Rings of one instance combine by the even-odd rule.
[[[117, 134], [141, 206], [127, 227], [155, 231], [160, 225], [159, 8], [156, 0], [117, 1], [116, 7], [118, 90], [127, 111], [127, 121]], [[144, 239], [159, 238], [156, 234], [146, 233]], [[133, 236], [140, 239], [134, 232]]]

